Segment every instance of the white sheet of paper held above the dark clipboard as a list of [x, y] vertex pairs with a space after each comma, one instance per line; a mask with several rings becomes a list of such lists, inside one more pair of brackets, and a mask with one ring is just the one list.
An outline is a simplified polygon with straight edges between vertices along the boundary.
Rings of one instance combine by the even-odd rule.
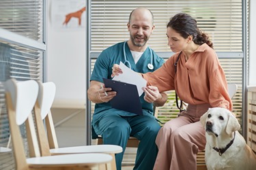
[[122, 69], [123, 73], [115, 76], [113, 80], [136, 85], [139, 96], [141, 96], [143, 94], [142, 88], [147, 85], [147, 81], [138, 73], [126, 67], [124, 63], [120, 62], [119, 67]]

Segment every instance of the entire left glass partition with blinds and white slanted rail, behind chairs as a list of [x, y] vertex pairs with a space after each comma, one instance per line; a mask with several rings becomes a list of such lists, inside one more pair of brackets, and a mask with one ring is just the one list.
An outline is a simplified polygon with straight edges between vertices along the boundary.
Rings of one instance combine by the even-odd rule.
[[[0, 1], [0, 147], [12, 149], [3, 83], [44, 80], [43, 0]], [[25, 126], [20, 126], [25, 137]], [[25, 149], [28, 150], [27, 146]], [[1, 152], [0, 169], [15, 169], [12, 152]]]

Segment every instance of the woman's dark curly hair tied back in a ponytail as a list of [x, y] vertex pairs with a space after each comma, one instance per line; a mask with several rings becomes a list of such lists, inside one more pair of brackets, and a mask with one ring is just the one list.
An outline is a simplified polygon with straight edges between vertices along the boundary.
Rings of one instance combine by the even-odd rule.
[[210, 41], [209, 36], [197, 28], [197, 20], [186, 13], [179, 13], [173, 16], [167, 24], [167, 28], [168, 27], [171, 27], [177, 33], [180, 33], [184, 38], [192, 35], [195, 44], [202, 45], [205, 43], [208, 44], [210, 48], [213, 48], [213, 44], [212, 41]]

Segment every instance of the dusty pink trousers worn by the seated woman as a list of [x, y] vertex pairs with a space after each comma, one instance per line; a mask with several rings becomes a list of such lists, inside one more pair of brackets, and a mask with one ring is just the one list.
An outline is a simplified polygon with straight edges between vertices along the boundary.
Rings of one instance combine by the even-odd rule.
[[188, 105], [177, 118], [166, 122], [158, 132], [156, 170], [197, 169], [197, 152], [205, 148], [205, 131], [199, 122], [209, 104]]

